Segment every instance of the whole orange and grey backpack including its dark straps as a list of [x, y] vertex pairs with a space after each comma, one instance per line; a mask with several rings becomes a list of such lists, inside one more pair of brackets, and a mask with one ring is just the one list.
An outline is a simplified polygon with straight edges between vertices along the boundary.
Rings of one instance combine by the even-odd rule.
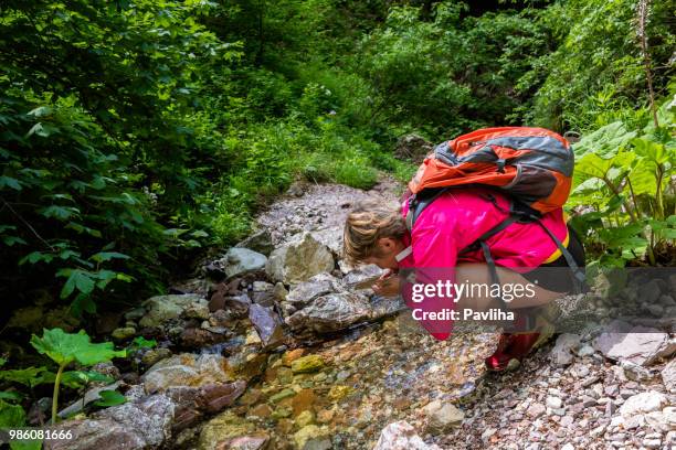
[[[509, 194], [509, 216], [477, 238], [462, 254], [483, 249], [492, 278], [497, 270], [485, 240], [515, 222], [538, 223], [557, 244], [574, 279], [584, 275], [563, 244], [540, 221], [541, 214], [563, 206], [572, 184], [574, 156], [570, 143], [545, 128], [497, 127], [462, 135], [434, 148], [409, 182], [406, 227], [439, 195], [452, 188], [490, 186]], [[497, 206], [495, 199], [490, 199]]]

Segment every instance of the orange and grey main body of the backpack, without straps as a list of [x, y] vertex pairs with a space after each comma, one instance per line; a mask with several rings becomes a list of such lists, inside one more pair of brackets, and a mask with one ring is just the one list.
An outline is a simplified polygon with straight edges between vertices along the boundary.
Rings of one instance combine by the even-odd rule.
[[[570, 193], [573, 152], [545, 128], [484, 128], [443, 142], [409, 183], [413, 194], [432, 188], [483, 184], [499, 188], [538, 213], [563, 206]], [[434, 190], [433, 190], [434, 191]]]

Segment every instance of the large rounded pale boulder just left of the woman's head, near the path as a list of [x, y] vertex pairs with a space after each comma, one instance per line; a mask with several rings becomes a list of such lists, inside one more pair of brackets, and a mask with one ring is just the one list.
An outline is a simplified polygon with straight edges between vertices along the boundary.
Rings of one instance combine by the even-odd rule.
[[313, 276], [334, 269], [334, 256], [311, 233], [295, 235], [287, 244], [276, 248], [265, 268], [274, 281], [295, 285]]

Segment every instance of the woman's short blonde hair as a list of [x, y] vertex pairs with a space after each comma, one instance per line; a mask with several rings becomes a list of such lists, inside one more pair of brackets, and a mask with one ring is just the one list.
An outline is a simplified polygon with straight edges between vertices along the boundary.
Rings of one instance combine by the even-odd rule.
[[357, 205], [345, 221], [342, 255], [349, 264], [362, 262], [369, 256], [379, 256], [378, 239], [401, 238], [406, 225], [398, 208], [376, 202]]

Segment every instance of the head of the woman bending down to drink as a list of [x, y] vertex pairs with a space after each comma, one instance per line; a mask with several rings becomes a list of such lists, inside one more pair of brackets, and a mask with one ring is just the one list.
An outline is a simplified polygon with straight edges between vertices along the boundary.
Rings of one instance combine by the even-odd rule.
[[374, 264], [383, 269], [397, 269], [394, 256], [404, 249], [406, 233], [398, 210], [374, 202], [355, 207], [345, 222], [342, 253], [351, 262]]

